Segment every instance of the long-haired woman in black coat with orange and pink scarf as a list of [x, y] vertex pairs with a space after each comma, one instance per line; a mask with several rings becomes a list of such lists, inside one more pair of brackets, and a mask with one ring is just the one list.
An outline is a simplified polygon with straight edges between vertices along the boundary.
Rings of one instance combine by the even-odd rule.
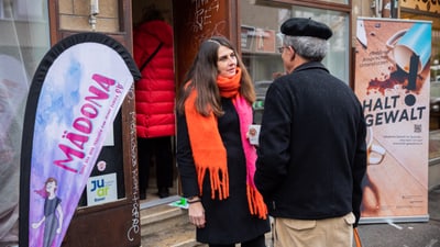
[[267, 209], [255, 189], [256, 153], [246, 138], [255, 92], [231, 43], [211, 37], [177, 100], [177, 162], [197, 240], [210, 247], [265, 246]]

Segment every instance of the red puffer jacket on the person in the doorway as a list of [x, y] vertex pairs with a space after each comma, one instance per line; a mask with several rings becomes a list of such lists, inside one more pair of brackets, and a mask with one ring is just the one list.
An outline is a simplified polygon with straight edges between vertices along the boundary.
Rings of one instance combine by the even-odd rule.
[[133, 54], [141, 69], [163, 43], [156, 55], [141, 71], [135, 82], [138, 137], [175, 135], [175, 76], [173, 30], [164, 21], [150, 21], [133, 31]]

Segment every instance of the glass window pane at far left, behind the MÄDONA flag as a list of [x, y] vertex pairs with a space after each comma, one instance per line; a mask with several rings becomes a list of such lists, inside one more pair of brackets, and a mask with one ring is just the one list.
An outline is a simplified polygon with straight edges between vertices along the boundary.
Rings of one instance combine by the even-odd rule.
[[48, 30], [47, 1], [0, 0], [0, 243], [18, 240], [13, 227], [24, 108], [33, 74], [50, 47]]

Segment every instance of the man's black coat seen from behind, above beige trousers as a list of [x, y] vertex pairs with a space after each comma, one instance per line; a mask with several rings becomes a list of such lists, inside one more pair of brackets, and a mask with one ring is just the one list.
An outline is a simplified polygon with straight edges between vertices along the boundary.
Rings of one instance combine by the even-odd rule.
[[359, 221], [365, 133], [356, 96], [322, 64], [276, 79], [265, 98], [254, 178], [270, 214], [322, 220], [353, 212]]

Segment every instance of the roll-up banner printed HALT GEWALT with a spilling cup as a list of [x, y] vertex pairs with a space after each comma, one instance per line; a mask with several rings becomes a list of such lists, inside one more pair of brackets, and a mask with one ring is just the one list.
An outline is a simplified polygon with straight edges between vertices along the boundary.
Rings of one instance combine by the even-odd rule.
[[431, 22], [359, 18], [356, 37], [369, 154], [361, 223], [427, 221]]

